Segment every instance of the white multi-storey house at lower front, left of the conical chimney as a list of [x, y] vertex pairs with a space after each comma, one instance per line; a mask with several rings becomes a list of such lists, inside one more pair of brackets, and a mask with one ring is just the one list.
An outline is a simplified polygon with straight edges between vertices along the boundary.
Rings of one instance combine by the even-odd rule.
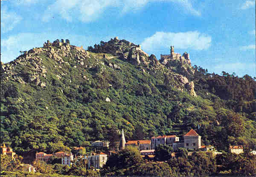
[[108, 155], [100, 152], [98, 154], [91, 154], [88, 157], [88, 168], [93, 167], [95, 169], [102, 168], [108, 160]]

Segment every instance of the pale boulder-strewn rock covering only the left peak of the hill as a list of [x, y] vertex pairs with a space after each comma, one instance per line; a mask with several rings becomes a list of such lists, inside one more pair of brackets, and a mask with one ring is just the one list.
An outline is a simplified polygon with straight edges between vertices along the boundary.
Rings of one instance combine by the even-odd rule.
[[[74, 57], [71, 50], [75, 51], [76, 56]], [[35, 85], [44, 88], [47, 83], [41, 81], [41, 77], [47, 78], [47, 68], [42, 63], [40, 55], [46, 55], [53, 59], [55, 62], [55, 68], [62, 68], [61, 65], [69, 64], [63, 60], [63, 57], [75, 60], [77, 64], [83, 66], [84, 59], [87, 57], [87, 52], [82, 47], [71, 46], [69, 43], [60, 42], [59, 40], [50, 43], [44, 43], [44, 47], [33, 48], [29, 51], [22, 51], [19, 57], [9, 63], [1, 63], [1, 79], [12, 80], [18, 83], [33, 83]], [[18, 72], [16, 66], [28, 66], [32, 74]], [[63, 74], [61, 74], [63, 75]], [[61, 79], [61, 77], [58, 77]]]

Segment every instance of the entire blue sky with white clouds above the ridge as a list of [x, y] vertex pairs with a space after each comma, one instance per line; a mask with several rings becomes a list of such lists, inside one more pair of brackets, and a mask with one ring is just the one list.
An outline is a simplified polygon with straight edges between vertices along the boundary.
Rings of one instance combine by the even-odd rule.
[[255, 0], [1, 0], [1, 61], [47, 40], [117, 36], [158, 59], [174, 45], [209, 72], [256, 77], [255, 18]]

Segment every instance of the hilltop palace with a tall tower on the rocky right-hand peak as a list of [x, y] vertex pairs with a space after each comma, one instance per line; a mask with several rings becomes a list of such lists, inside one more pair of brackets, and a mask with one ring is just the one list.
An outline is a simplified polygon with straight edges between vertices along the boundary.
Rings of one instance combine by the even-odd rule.
[[191, 66], [189, 54], [187, 52], [184, 52], [181, 56], [181, 54], [175, 53], [174, 46], [171, 46], [170, 54], [160, 55], [160, 63], [166, 65], [166, 63], [168, 63], [169, 61], [178, 61], [179, 63], [181, 63], [181, 65], [188, 64], [189, 66]]

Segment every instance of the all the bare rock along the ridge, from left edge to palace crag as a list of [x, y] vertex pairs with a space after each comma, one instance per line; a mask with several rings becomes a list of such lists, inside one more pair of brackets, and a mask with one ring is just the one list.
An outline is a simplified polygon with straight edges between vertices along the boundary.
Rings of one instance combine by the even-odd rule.
[[[103, 73], [106, 66], [121, 71], [120, 66], [111, 62], [111, 59], [114, 56], [134, 65], [140, 65], [139, 68], [143, 74], [150, 74], [151, 71], [151, 73], [156, 73], [156, 71], [167, 72], [169, 73], [169, 77], [172, 78], [169, 84], [170, 86], [177, 88], [180, 91], [187, 90], [189, 94], [196, 96], [193, 82], [189, 82], [183, 75], [173, 73], [168, 69], [167, 64], [169, 58], [165, 58], [165, 60], [160, 63], [154, 54], [151, 54], [149, 57], [148, 54], [140, 48], [140, 45], [135, 45], [126, 40], [119, 40], [117, 37], [108, 41], [107, 44], [111, 46], [109, 53], [113, 55], [109, 55], [109, 53], [96, 54], [87, 52], [82, 46], [72, 46], [70, 43], [65, 43], [62, 40], [61, 42], [55, 40], [53, 43], [50, 43], [48, 40], [47, 43], [44, 43], [44, 47], [23, 51], [23, 54], [17, 57], [16, 60], [6, 64], [1, 63], [1, 79], [5, 78], [6, 80], [16, 81], [22, 84], [31, 83], [44, 88], [47, 85], [52, 84], [49, 80], [45, 80], [47, 79], [48, 70], [43, 64], [49, 60], [49, 58], [52, 59], [50, 63], [52, 64], [53, 70], [51, 69], [51, 72], [55, 74], [53, 79], [62, 81], [64, 80], [64, 75], [67, 74], [64, 70], [67, 69], [67, 67], [72, 67], [73, 69], [79, 68], [80, 70], [85, 68], [96, 69], [97, 65], [101, 65], [99, 73]], [[99, 55], [102, 57], [99, 57]], [[42, 58], [44, 57], [49, 58], [42, 62]], [[87, 63], [89, 58], [95, 59], [96, 63], [93, 65]], [[181, 58], [189, 60], [189, 54], [185, 52]], [[106, 59], [108, 61], [106, 61]], [[18, 73], [15, 69], [17, 65], [29, 66], [30, 70], [27, 73]], [[81, 77], [84, 80], [89, 80], [84, 74], [81, 74]]]

